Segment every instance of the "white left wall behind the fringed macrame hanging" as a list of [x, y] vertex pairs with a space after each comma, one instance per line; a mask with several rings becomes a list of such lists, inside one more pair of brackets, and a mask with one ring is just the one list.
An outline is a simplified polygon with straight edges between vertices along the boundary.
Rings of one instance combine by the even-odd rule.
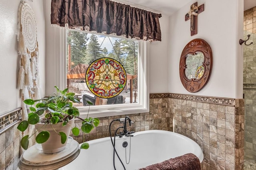
[[[20, 68], [17, 53], [17, 18], [19, 0], [0, 1], [0, 115], [21, 105], [17, 75]], [[45, 91], [45, 18], [44, 0], [34, 0], [32, 9], [37, 22], [39, 45], [40, 93]]]

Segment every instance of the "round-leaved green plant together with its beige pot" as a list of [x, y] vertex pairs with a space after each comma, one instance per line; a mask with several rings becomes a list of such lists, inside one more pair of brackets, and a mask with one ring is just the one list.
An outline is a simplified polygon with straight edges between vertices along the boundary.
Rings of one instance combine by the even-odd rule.
[[[84, 133], [89, 133], [100, 123], [98, 118], [88, 118], [88, 114], [86, 119], [80, 118], [79, 110], [73, 106], [73, 103], [80, 102], [75, 97], [75, 93], [68, 93], [68, 89], [62, 91], [56, 86], [55, 88], [57, 93], [53, 93], [44, 99], [24, 100], [26, 105], [30, 105], [31, 113], [28, 114], [28, 120], [21, 121], [17, 127], [18, 130], [24, 132], [29, 125], [35, 125], [36, 132], [34, 134], [38, 132], [36, 142], [42, 144], [44, 153], [55, 153], [64, 149], [71, 129], [74, 136], [79, 135], [79, 128], [72, 127], [75, 118], [82, 120], [81, 130]], [[87, 103], [90, 109], [92, 103], [89, 101]], [[23, 136], [20, 141], [22, 148], [25, 150], [28, 149], [28, 139], [31, 136]], [[87, 149], [89, 144], [84, 142], [80, 148]]]

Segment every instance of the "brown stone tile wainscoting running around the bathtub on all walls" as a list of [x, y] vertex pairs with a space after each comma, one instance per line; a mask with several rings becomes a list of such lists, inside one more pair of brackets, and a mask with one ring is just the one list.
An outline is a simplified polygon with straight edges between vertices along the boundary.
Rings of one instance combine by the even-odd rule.
[[[100, 125], [90, 134], [73, 136], [78, 142], [109, 136], [113, 119], [126, 115], [100, 117]], [[134, 124], [129, 130], [170, 130], [196, 141], [204, 152], [202, 169], [242, 169], [244, 160], [244, 101], [174, 93], [150, 94], [150, 111], [128, 115]], [[2, 122], [1, 122], [2, 123]], [[75, 121], [81, 126], [81, 121]], [[174, 125], [173, 125], [174, 123]], [[114, 129], [120, 123], [113, 123]], [[16, 169], [20, 155], [17, 124], [0, 133], [0, 167]], [[10, 138], [11, 136], [11, 138]], [[12, 137], [13, 136], [13, 137]], [[2, 169], [1, 169], [2, 170]]]

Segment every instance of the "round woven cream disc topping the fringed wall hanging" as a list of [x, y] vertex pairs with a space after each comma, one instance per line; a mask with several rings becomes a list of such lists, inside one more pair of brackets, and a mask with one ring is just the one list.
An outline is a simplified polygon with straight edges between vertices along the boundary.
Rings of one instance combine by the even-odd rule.
[[22, 5], [20, 24], [22, 25], [22, 34], [28, 51], [35, 51], [37, 42], [36, 18], [28, 3]]

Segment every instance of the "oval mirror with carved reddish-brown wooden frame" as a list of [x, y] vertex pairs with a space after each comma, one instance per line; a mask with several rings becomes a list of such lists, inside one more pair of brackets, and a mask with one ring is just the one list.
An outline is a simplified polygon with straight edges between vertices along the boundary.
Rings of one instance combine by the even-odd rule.
[[190, 41], [180, 57], [180, 80], [189, 92], [200, 91], [208, 82], [212, 70], [212, 49], [202, 39]]

